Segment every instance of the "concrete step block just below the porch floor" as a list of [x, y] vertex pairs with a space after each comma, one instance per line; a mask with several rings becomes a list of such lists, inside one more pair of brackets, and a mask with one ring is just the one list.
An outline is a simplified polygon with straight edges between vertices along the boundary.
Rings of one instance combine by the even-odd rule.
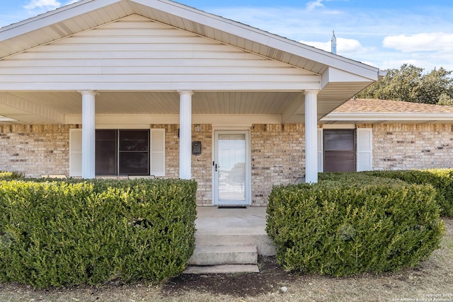
[[256, 245], [195, 245], [189, 265], [256, 265]]

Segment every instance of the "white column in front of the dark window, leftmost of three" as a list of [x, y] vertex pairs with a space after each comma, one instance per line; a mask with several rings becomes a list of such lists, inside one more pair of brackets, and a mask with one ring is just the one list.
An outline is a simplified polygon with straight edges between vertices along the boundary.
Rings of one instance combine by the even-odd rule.
[[95, 91], [79, 91], [82, 95], [82, 178], [95, 178], [96, 126]]

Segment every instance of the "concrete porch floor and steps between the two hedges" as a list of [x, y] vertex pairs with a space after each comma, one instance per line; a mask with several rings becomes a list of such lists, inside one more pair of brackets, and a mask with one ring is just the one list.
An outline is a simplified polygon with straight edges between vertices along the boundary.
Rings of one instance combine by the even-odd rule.
[[186, 274], [259, 272], [258, 255], [275, 255], [266, 207], [197, 207], [195, 252]]

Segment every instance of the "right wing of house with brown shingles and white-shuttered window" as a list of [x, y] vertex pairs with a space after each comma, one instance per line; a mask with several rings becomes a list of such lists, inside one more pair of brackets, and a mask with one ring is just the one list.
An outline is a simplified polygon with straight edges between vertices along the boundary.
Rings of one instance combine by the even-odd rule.
[[348, 100], [321, 118], [318, 141], [319, 171], [452, 168], [453, 107]]

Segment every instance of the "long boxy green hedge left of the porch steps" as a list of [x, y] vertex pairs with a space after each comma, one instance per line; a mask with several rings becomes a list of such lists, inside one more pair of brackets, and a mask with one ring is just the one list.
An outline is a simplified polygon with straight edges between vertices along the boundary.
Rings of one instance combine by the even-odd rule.
[[190, 180], [0, 182], [0, 280], [159, 281], [195, 247]]

